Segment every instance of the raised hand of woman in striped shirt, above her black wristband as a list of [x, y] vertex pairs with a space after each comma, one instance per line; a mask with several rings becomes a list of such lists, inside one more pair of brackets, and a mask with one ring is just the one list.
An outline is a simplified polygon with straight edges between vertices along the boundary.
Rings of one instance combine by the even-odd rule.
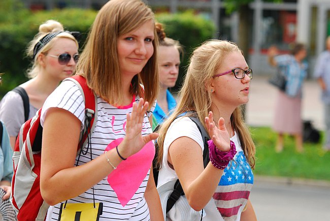
[[125, 158], [139, 152], [146, 143], [158, 137], [157, 133], [141, 135], [143, 119], [148, 106], [149, 103], [140, 98], [139, 104], [133, 103], [132, 112], [126, 115], [126, 136], [118, 146], [120, 154]]

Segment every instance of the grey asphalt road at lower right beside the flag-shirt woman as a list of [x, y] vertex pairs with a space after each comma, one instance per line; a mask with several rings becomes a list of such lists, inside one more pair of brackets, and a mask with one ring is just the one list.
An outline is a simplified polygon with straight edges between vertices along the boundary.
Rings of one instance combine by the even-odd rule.
[[257, 177], [250, 200], [261, 221], [330, 220], [330, 185], [326, 183], [289, 184], [286, 179]]

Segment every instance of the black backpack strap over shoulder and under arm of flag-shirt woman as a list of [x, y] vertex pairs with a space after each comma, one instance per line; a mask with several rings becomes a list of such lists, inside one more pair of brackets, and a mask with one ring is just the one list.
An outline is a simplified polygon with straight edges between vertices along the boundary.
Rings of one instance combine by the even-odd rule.
[[[204, 142], [203, 163], [204, 163], [204, 168], [205, 168], [208, 165], [209, 161], [210, 161], [209, 146], [208, 146], [208, 143], [207, 143], [208, 140], [210, 140], [209, 134], [207, 133], [207, 131], [203, 127], [203, 125], [202, 125], [201, 121], [199, 120], [199, 118], [197, 116], [195, 116], [195, 114], [192, 114], [192, 115], [189, 114], [187, 117], [189, 117], [192, 120], [192, 122], [194, 122], [196, 124], [198, 130], [200, 131], [200, 133], [202, 135], [202, 139], [203, 139], [203, 142]], [[183, 188], [181, 186], [180, 180], [178, 179], [175, 182], [174, 190], [171, 193], [171, 195], [170, 195], [170, 197], [167, 201], [166, 213], [168, 213], [172, 209], [175, 202], [177, 202], [178, 199], [183, 195], [184, 195]]]

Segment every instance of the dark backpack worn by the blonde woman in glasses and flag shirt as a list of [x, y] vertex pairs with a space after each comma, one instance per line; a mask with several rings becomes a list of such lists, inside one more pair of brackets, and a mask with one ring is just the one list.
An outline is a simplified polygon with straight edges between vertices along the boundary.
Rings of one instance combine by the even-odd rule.
[[[182, 115], [178, 115], [175, 119], [177, 119], [178, 117], [181, 117]], [[208, 165], [208, 163], [210, 162], [210, 157], [209, 157], [209, 145], [208, 145], [208, 140], [210, 140], [209, 135], [207, 133], [207, 131], [205, 130], [205, 128], [203, 127], [200, 119], [196, 116], [196, 114], [192, 111], [189, 111], [186, 113], [186, 117], [189, 117], [192, 122], [194, 122], [198, 128], [198, 130], [200, 131], [201, 135], [202, 135], [202, 139], [204, 142], [204, 151], [203, 151], [203, 164], [204, 164], [204, 168], [206, 168], [206, 166]], [[160, 125], [157, 125], [155, 131], [158, 130]], [[155, 181], [155, 184], [157, 186], [158, 183], [158, 174], [159, 174], [159, 169], [156, 166], [156, 158], [157, 158], [157, 153], [158, 153], [158, 145], [157, 142], [155, 142], [155, 148], [156, 148], [156, 154], [154, 157], [154, 160], [152, 162], [152, 166], [153, 166], [153, 178]], [[178, 199], [184, 195], [180, 180], [177, 179], [177, 181], [175, 182], [174, 186], [173, 186], [173, 192], [171, 193], [168, 201], [167, 201], [167, 205], [166, 205], [166, 213], [168, 213], [172, 207], [174, 206], [175, 202], [178, 201]]]

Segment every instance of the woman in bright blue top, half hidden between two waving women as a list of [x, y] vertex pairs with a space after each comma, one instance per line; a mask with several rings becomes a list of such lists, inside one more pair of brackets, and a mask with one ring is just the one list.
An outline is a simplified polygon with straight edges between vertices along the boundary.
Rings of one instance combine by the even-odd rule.
[[176, 107], [175, 98], [169, 91], [175, 86], [179, 75], [180, 55], [183, 55], [182, 45], [176, 40], [166, 37], [166, 33], [160, 23], [156, 23], [158, 47], [158, 67], [159, 67], [159, 91], [156, 108], [153, 112], [153, 128], [171, 114]]

